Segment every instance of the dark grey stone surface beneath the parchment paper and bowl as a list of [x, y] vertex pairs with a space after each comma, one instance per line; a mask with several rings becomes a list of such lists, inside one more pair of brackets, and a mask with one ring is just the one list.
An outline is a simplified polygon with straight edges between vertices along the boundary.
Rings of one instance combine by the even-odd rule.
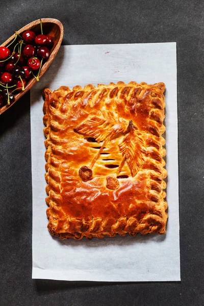
[[176, 41], [182, 281], [94, 283], [31, 278], [32, 181], [27, 93], [0, 117], [0, 304], [203, 305], [204, 2], [0, 0], [0, 44], [23, 25], [44, 17], [63, 23], [63, 44]]

